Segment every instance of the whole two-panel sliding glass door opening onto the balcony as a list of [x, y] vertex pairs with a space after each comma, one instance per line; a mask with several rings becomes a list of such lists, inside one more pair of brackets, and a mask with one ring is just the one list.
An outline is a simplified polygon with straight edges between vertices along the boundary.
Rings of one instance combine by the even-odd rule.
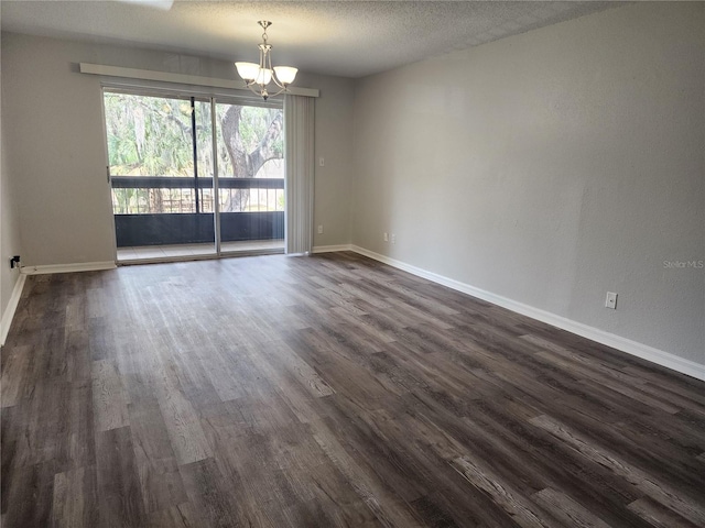
[[106, 90], [105, 116], [118, 261], [283, 251], [281, 108]]

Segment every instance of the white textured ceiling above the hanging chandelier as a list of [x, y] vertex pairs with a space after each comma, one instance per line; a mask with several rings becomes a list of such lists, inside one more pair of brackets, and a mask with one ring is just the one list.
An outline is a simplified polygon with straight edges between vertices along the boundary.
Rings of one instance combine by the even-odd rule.
[[[158, 7], [141, 4], [154, 2]], [[171, 4], [171, 8], [170, 8]], [[2, 31], [256, 61], [271, 20], [274, 64], [361, 77], [523, 33], [618, 2], [1, 0]]]

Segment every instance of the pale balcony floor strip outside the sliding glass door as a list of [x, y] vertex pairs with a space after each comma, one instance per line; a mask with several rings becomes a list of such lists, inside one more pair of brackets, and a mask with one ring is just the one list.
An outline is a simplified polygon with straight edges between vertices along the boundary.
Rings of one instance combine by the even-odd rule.
[[[283, 251], [284, 241], [282, 239], [223, 242], [220, 244], [221, 254], [281, 253]], [[120, 264], [131, 264], [145, 261], [178, 261], [215, 256], [215, 254], [214, 244], [142, 245], [118, 248], [118, 262]]]

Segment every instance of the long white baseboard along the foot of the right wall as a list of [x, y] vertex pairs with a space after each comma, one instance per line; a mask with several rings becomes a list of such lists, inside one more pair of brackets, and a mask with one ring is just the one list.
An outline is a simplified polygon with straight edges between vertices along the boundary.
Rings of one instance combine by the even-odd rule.
[[453, 278], [448, 278], [443, 275], [438, 275], [436, 273], [412, 266], [411, 264], [406, 264], [405, 262], [398, 261], [379, 253], [375, 253], [373, 251], [366, 250], [365, 248], [351, 245], [350, 251], [359, 253], [360, 255], [365, 255], [369, 258], [373, 258], [378, 262], [388, 264], [398, 270], [411, 273], [412, 275], [416, 275], [443, 286], [447, 286], [448, 288], [453, 288], [457, 292], [463, 292], [464, 294], [471, 295], [473, 297], [477, 297], [478, 299], [482, 299], [488, 302], [492, 302], [494, 305], [501, 306], [502, 308], [507, 308], [508, 310], [521, 314], [522, 316], [531, 317], [532, 319], [535, 319], [538, 321], [552, 324], [571, 333], [575, 333], [598, 343], [606, 344], [607, 346], [611, 346], [642, 360], [650, 361], [651, 363], [672, 369], [676, 372], [680, 372], [681, 374], [686, 374], [697, 380], [705, 381], [705, 364], [696, 363], [694, 361], [671, 354], [670, 352], [664, 352], [662, 350], [654, 349], [653, 346], [649, 346], [647, 344], [639, 343], [637, 341], [632, 341], [630, 339], [622, 338], [610, 332], [606, 332], [598, 328], [589, 327], [587, 324], [573, 321], [572, 319], [567, 319], [562, 316], [556, 316], [555, 314], [551, 314], [550, 311], [541, 310], [539, 308], [518, 302], [507, 297], [492, 294], [491, 292], [476, 288], [475, 286], [471, 286], [469, 284], [460, 283], [459, 280], [455, 280]]

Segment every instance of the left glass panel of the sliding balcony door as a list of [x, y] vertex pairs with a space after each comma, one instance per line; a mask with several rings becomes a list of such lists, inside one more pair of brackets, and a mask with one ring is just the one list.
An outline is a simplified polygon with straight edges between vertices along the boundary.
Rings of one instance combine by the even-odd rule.
[[106, 91], [118, 261], [215, 254], [207, 100]]

